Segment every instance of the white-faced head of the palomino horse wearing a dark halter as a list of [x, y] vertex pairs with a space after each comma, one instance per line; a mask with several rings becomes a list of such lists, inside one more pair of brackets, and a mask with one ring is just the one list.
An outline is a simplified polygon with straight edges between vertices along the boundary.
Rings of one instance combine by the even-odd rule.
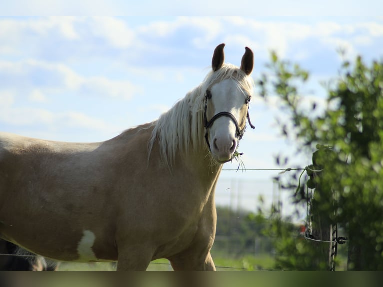
[[240, 68], [223, 65], [223, 48], [224, 44], [220, 44], [214, 50], [215, 80], [206, 89], [204, 108], [206, 142], [218, 163], [233, 158], [246, 128], [253, 82], [249, 75], [254, 65], [253, 52], [247, 47]]

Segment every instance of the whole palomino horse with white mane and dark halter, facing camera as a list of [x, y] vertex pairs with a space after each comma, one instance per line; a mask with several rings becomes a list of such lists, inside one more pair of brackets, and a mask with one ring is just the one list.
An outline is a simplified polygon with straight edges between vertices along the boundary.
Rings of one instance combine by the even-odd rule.
[[[215, 270], [215, 185], [237, 155], [253, 53], [224, 63], [157, 121], [97, 143], [0, 133], [0, 235], [42, 256], [144, 270]], [[250, 122], [249, 122], [250, 123]], [[251, 123], [250, 123], [251, 124]]]

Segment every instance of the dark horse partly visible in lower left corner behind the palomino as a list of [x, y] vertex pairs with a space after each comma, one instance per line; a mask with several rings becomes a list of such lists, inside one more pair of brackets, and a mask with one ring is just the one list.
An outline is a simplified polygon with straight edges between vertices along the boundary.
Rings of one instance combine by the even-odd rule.
[[57, 268], [57, 262], [47, 262], [42, 256], [0, 239], [0, 271], [55, 271]]

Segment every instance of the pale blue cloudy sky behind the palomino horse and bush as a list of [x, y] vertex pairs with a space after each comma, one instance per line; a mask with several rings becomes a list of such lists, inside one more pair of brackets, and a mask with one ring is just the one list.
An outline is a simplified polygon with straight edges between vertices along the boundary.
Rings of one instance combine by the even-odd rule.
[[[305, 11], [303, 1], [292, 3]], [[220, 43], [226, 43], [226, 61], [236, 65], [245, 46], [253, 50], [255, 81], [266, 71], [272, 50], [300, 64], [311, 75], [306, 101], [320, 105], [326, 95], [320, 82], [338, 74], [339, 48], [350, 59], [358, 54], [366, 62], [383, 58], [383, 17], [376, 12], [382, 4], [347, 4], [342, 16], [283, 16], [283, 9], [273, 16], [207, 16], [203, 11], [201, 16], [1, 16], [0, 130], [49, 140], [107, 140], [157, 119], [196, 87]], [[115, 7], [110, 5], [105, 14], [113, 14]], [[28, 8], [23, 6], [25, 12]], [[196, 5], [189, 8], [194, 11]], [[63, 14], [70, 12], [65, 9]], [[293, 154], [294, 143], [286, 142], [276, 125], [276, 117], [284, 118], [278, 101], [271, 97], [265, 102], [258, 91], [250, 104], [256, 129], [247, 128], [239, 151], [247, 169], [278, 168], [275, 156]], [[298, 164], [310, 164], [309, 158], [300, 158]], [[236, 162], [224, 165], [237, 167]], [[245, 182], [246, 192], [253, 195], [251, 203], [242, 198], [240, 204], [255, 206], [259, 190], [269, 194], [276, 175], [223, 171], [217, 192], [226, 198], [223, 204], [232, 203], [241, 196], [225, 190]]]

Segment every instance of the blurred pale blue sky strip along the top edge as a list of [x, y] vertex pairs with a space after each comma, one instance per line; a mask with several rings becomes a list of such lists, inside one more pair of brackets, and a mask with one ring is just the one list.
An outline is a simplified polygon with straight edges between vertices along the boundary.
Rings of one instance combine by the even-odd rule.
[[[13, 0], [1, 5], [3, 15], [243, 15], [243, 16], [381, 16], [380, 0]], [[5, 4], [6, 3], [6, 4]]]

